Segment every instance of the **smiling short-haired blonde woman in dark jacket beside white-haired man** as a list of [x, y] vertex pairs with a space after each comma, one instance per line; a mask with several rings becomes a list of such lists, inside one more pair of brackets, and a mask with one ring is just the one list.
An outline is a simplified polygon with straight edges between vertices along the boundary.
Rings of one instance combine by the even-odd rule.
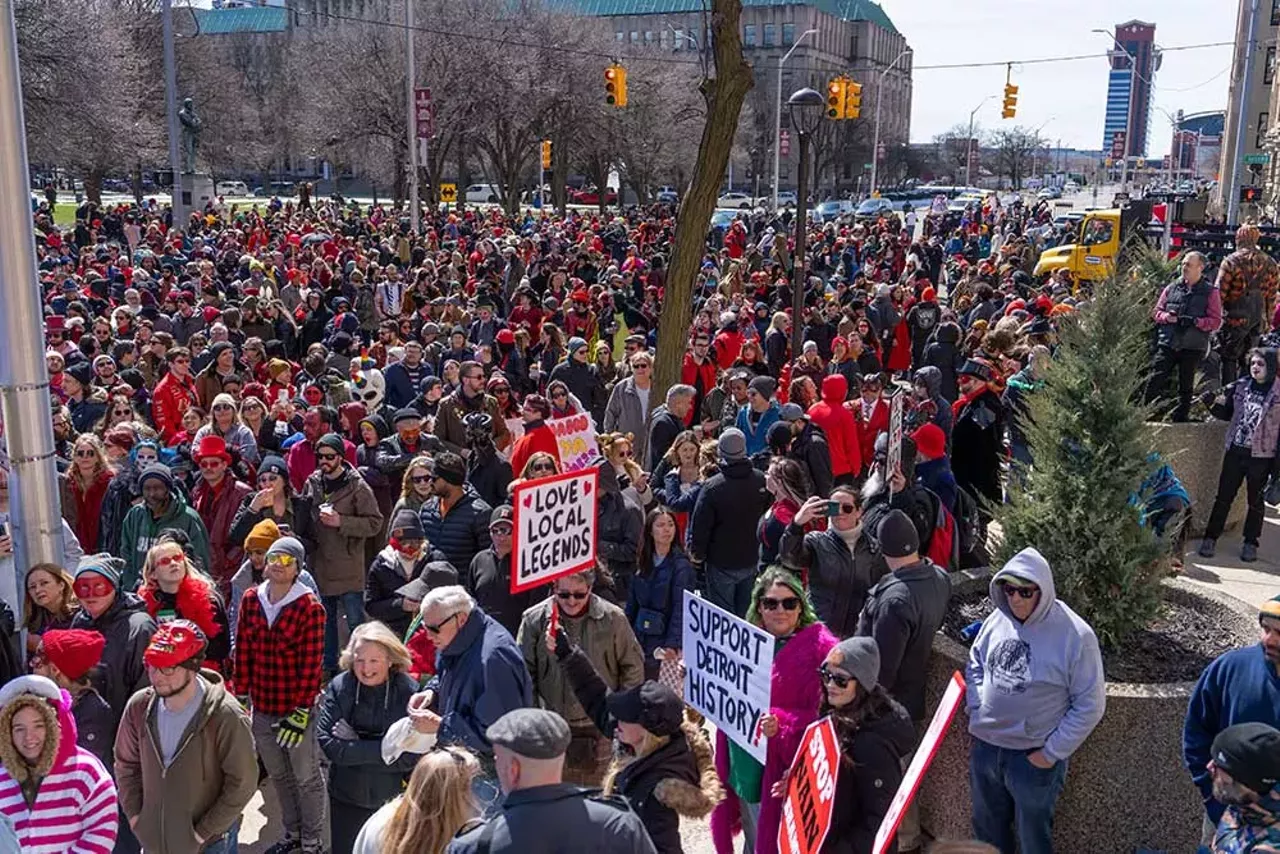
[[320, 698], [316, 740], [332, 766], [330, 850], [349, 851], [365, 822], [403, 791], [417, 762], [413, 753], [383, 762], [383, 736], [408, 716], [417, 682], [408, 675], [408, 649], [376, 620], [351, 632], [338, 666], [342, 672]]

